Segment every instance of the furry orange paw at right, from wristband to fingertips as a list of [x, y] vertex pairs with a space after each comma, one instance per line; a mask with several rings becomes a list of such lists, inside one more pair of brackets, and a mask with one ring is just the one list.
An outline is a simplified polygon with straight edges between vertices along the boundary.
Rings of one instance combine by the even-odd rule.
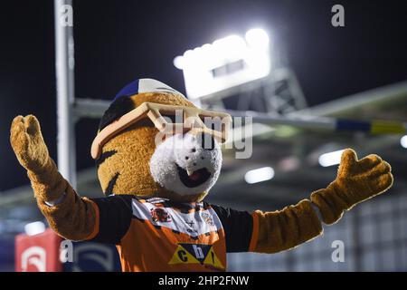
[[390, 164], [375, 154], [357, 160], [354, 150], [342, 153], [341, 164], [334, 182], [327, 189], [312, 193], [311, 200], [321, 212], [324, 223], [333, 224], [344, 210], [390, 189], [393, 175]]

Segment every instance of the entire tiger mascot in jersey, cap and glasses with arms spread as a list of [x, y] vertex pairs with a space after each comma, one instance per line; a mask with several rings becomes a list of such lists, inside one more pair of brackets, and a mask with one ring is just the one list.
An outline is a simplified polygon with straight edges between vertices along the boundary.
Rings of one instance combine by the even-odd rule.
[[[224, 122], [214, 129], [204, 118]], [[131, 82], [105, 111], [91, 147], [103, 198], [72, 189], [33, 115], [14, 118], [10, 140], [52, 229], [66, 239], [116, 245], [123, 271], [224, 271], [226, 253], [296, 247], [393, 184], [387, 162], [374, 154], [358, 160], [348, 149], [336, 179], [297, 205], [250, 213], [209, 204], [204, 198], [219, 177], [230, 121], [162, 82]]]

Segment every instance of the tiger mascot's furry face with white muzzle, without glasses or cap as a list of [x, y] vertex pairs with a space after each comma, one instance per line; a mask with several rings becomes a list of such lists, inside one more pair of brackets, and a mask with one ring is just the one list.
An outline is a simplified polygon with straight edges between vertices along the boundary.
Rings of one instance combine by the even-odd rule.
[[[172, 92], [146, 92], [113, 102], [99, 130], [144, 102], [194, 107]], [[96, 160], [100, 186], [106, 196], [132, 194], [179, 202], [202, 200], [219, 177], [222, 151], [219, 143], [204, 148], [204, 133], [183, 131], [156, 146], [159, 131], [148, 118], [120, 131], [101, 148]], [[207, 138], [206, 138], [207, 140]]]

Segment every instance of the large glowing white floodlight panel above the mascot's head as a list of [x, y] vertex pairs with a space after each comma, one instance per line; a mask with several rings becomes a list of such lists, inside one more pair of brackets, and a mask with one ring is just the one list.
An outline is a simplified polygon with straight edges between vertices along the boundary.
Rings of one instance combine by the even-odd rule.
[[174, 65], [184, 73], [188, 98], [220, 92], [270, 73], [269, 35], [260, 28], [230, 35], [176, 56]]

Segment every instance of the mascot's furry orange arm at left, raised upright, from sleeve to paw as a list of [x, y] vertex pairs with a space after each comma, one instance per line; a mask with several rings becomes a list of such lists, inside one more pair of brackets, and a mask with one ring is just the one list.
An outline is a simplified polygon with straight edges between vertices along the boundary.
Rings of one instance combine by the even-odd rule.
[[[90, 199], [80, 198], [58, 172], [38, 120], [33, 115], [15, 117], [10, 141], [17, 159], [27, 169], [38, 207], [52, 229], [71, 240], [95, 237], [99, 209]], [[54, 203], [57, 204], [52, 206]]]

